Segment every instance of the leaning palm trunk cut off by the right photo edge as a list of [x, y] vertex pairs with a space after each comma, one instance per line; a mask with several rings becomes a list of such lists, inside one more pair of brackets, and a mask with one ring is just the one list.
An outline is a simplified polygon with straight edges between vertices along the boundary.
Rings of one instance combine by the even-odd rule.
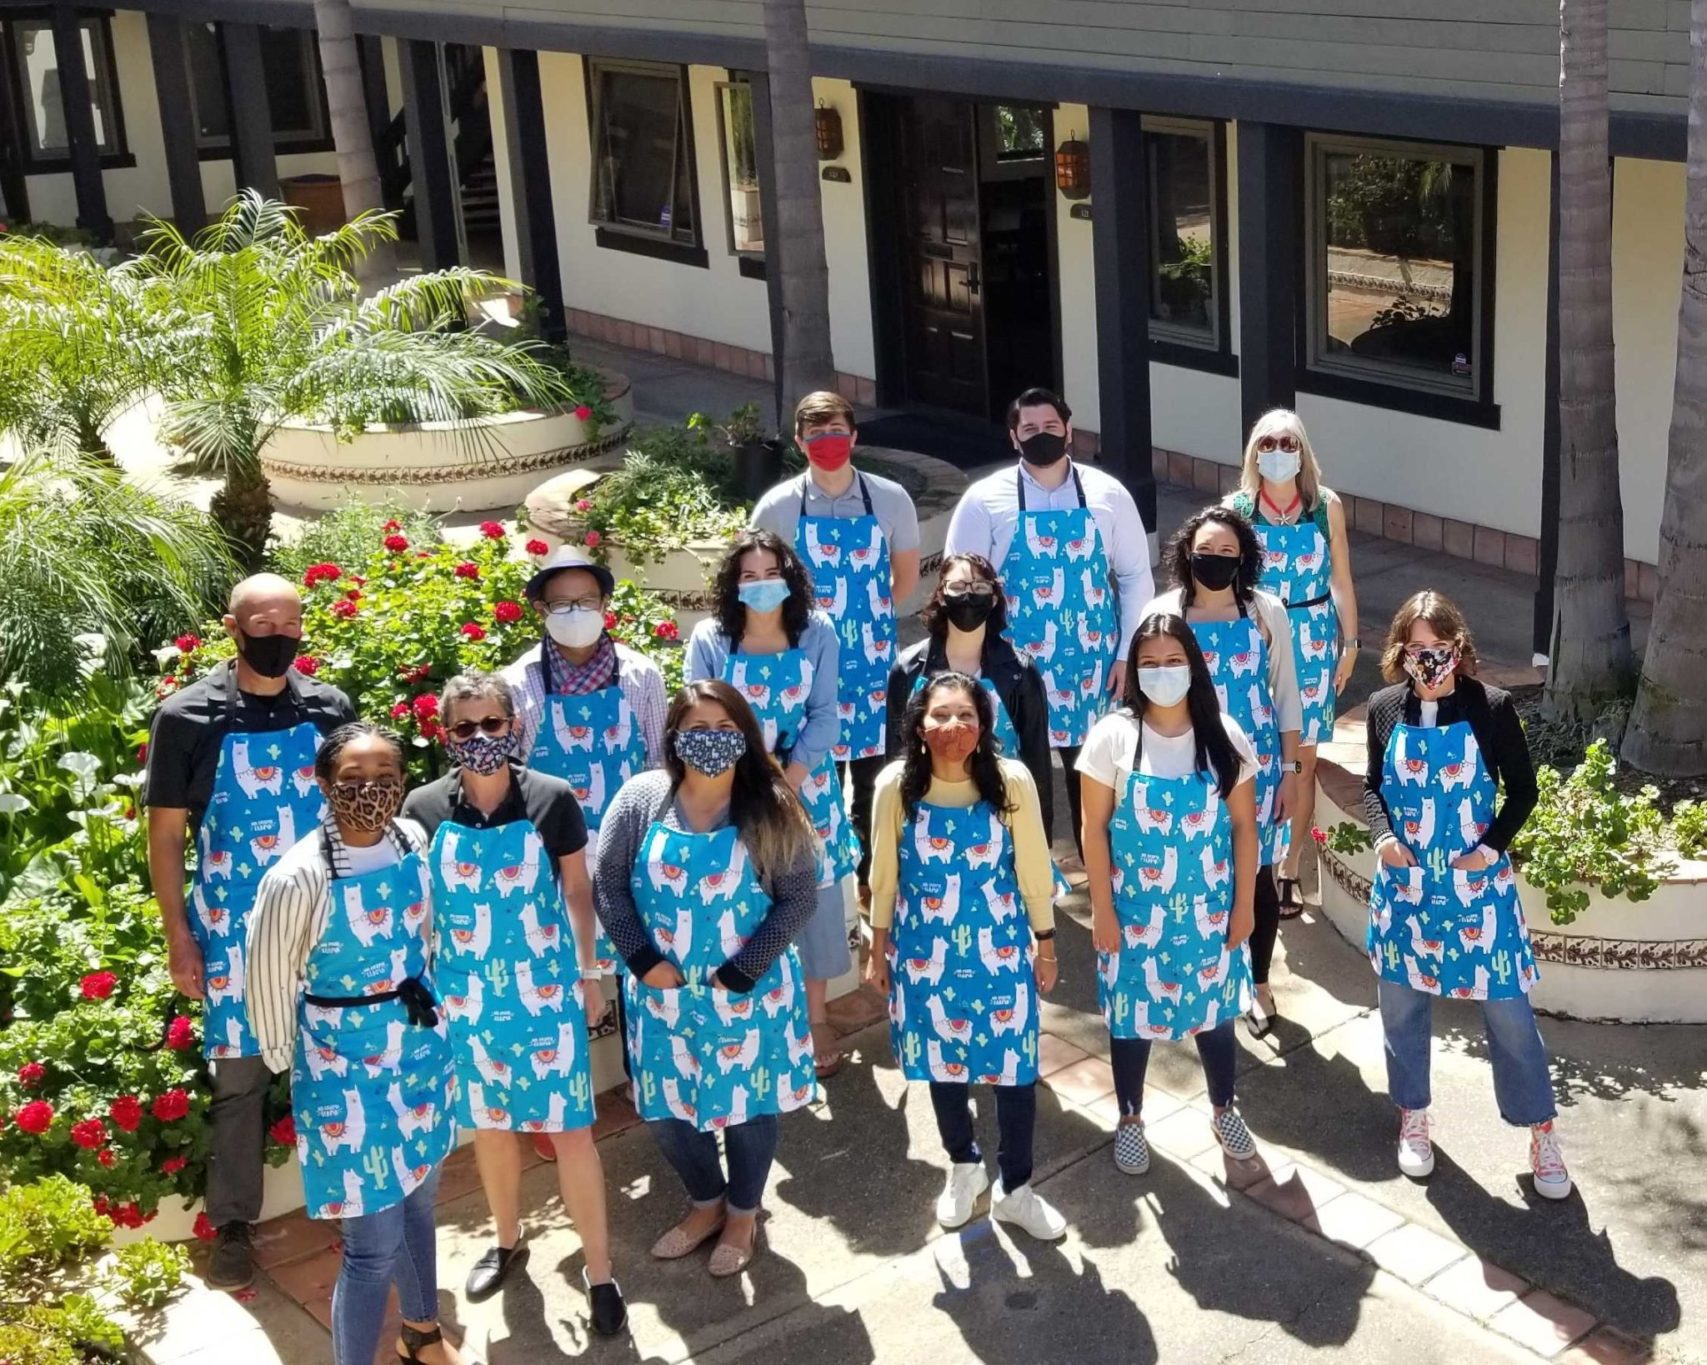
[[1683, 300], [1659, 597], [1623, 758], [1646, 773], [1707, 773], [1707, 0], [1690, 3]]

